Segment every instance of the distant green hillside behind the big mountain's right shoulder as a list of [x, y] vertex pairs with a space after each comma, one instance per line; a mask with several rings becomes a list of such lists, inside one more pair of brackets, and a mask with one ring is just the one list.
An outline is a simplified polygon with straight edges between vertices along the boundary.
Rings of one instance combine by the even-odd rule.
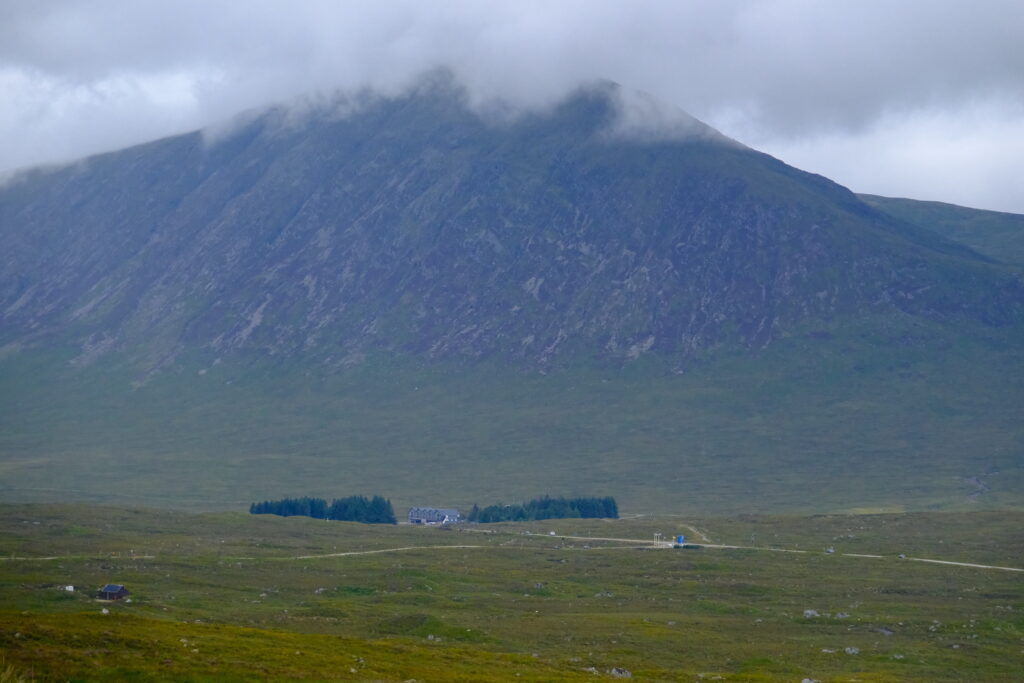
[[1024, 215], [969, 209], [942, 202], [858, 195], [864, 203], [907, 222], [935, 230], [998, 261], [1024, 264]]

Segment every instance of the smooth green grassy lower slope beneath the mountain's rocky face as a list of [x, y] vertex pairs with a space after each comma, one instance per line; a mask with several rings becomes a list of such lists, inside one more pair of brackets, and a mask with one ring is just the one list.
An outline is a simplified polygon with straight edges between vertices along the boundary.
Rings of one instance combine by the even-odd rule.
[[1024, 505], [1016, 345], [818, 331], [684, 375], [548, 375], [377, 358], [130, 368], [0, 364], [5, 500], [242, 508], [380, 493], [468, 507], [613, 495], [630, 512]]

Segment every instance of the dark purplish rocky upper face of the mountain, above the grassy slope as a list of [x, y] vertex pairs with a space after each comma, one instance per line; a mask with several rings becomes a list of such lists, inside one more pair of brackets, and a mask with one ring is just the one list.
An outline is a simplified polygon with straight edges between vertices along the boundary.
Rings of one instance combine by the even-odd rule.
[[0, 189], [0, 345], [681, 359], [871, 314], [1019, 321], [1019, 276], [700, 128], [615, 130], [614, 90], [488, 124], [449, 86], [271, 112]]

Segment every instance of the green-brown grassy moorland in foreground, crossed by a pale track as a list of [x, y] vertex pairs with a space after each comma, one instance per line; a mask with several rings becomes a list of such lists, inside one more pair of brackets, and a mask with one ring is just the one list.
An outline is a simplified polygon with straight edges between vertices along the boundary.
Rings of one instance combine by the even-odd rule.
[[[1022, 527], [1021, 513], [919, 513], [441, 530], [0, 506], [0, 647], [11, 676], [35, 680], [600, 680], [620, 668], [1011, 681], [1024, 665], [1020, 574], [897, 555], [1021, 566]], [[753, 549], [655, 549], [655, 530]], [[796, 545], [810, 552], [766, 549]], [[132, 601], [95, 602], [109, 581]]]

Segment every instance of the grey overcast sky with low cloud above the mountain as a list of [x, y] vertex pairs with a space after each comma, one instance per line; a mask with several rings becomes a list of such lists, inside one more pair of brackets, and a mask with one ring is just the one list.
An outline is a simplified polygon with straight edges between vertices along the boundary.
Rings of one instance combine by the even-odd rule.
[[1024, 213], [1022, 0], [2, 0], [0, 170], [451, 68], [611, 79], [856, 191]]

